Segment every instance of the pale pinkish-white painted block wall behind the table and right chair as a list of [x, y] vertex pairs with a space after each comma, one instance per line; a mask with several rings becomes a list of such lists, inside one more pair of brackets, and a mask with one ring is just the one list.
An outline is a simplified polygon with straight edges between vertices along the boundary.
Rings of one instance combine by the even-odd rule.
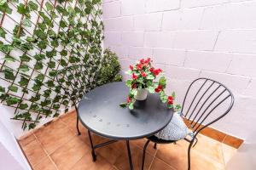
[[213, 127], [246, 139], [256, 129], [255, 9], [252, 0], [104, 0], [104, 46], [123, 71], [154, 59], [178, 101], [196, 77], [224, 82], [236, 103]]

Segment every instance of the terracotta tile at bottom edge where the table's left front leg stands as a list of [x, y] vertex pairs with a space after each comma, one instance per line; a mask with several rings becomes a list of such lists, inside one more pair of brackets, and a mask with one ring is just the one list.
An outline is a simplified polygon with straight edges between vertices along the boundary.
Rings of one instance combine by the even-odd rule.
[[71, 169], [72, 170], [112, 170], [113, 166], [108, 163], [102, 156], [97, 156], [97, 160], [94, 162], [91, 160], [90, 152], [87, 152]]

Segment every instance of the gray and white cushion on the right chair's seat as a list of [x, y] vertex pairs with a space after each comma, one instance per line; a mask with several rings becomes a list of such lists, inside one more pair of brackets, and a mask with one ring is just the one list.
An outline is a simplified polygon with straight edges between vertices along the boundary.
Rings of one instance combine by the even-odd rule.
[[179, 140], [184, 139], [189, 133], [189, 128], [183, 122], [183, 118], [174, 113], [172, 121], [159, 133], [154, 134], [159, 139], [164, 140]]

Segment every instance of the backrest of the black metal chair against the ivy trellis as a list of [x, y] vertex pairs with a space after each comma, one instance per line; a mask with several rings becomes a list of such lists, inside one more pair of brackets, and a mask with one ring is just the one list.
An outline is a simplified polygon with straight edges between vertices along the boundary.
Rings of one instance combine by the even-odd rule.
[[95, 74], [89, 70], [89, 65], [72, 65], [61, 69], [56, 74], [56, 80], [64, 91], [64, 98], [71, 100], [76, 106], [83, 95], [95, 88]]

